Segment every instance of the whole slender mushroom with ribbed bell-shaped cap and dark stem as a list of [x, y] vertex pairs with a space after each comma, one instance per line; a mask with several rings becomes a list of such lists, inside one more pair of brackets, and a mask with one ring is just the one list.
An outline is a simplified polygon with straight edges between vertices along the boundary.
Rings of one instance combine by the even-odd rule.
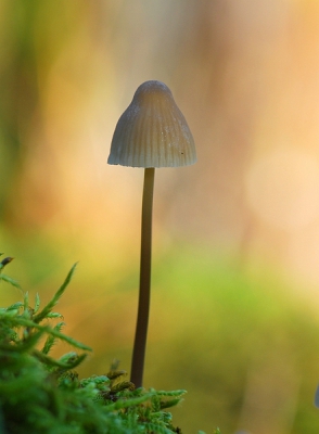
[[151, 293], [152, 207], [155, 167], [194, 164], [192, 133], [168, 87], [150, 80], [137, 89], [116, 125], [109, 164], [143, 167], [141, 258], [138, 319], [131, 382], [142, 386]]

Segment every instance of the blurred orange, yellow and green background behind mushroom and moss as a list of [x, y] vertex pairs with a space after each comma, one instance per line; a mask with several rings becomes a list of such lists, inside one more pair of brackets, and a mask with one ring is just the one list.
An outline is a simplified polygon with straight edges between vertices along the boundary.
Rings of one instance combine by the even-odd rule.
[[144, 378], [188, 390], [186, 434], [319, 429], [318, 25], [310, 0], [0, 2], [0, 251], [42, 305], [79, 261], [56, 310], [81, 375], [130, 369], [143, 171], [107, 166], [116, 122], [148, 79], [188, 119], [199, 162], [156, 170]]

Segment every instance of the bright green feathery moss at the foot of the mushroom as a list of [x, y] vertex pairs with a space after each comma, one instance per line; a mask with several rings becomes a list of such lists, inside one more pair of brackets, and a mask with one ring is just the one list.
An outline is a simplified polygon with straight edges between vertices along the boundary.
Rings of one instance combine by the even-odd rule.
[[[3, 267], [2, 267], [3, 268]], [[62, 333], [62, 318], [52, 309], [67, 288], [75, 266], [52, 299], [40, 309], [39, 296], [0, 308], [0, 432], [2, 434], [181, 433], [167, 409], [186, 391], [146, 391], [125, 380], [118, 363], [106, 375], [79, 379], [75, 368], [90, 347]], [[13, 285], [17, 282], [1, 273]], [[74, 350], [49, 356], [65, 341]]]

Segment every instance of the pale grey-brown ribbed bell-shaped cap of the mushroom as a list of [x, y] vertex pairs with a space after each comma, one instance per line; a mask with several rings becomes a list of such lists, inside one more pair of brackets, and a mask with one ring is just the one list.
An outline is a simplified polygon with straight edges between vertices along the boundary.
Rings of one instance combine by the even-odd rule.
[[177, 167], [195, 162], [193, 136], [170, 90], [161, 81], [143, 82], [117, 122], [107, 163]]

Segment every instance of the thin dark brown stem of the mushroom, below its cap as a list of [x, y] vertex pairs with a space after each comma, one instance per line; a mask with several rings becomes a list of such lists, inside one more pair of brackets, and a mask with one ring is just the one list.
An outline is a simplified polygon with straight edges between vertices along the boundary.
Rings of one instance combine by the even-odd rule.
[[130, 378], [136, 387], [142, 386], [149, 324], [154, 176], [154, 167], [145, 168], [142, 201], [140, 293]]

